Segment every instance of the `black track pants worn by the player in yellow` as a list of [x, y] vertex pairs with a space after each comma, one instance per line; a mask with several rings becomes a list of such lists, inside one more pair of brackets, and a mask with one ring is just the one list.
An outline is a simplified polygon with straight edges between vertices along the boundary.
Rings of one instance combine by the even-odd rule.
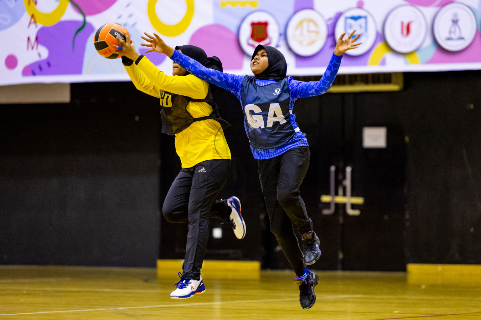
[[215, 201], [230, 173], [230, 160], [206, 160], [182, 168], [165, 197], [162, 213], [172, 223], [189, 222], [187, 248], [182, 265], [187, 279], [200, 280], [209, 238], [209, 219], [225, 219], [227, 201]]

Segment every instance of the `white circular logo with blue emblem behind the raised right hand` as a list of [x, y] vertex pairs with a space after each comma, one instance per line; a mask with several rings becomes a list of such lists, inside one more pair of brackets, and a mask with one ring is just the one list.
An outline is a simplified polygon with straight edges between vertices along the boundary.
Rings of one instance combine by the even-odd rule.
[[352, 8], [344, 11], [336, 23], [336, 29], [334, 32], [335, 41], [344, 32], [346, 36], [344, 39], [356, 30], [353, 38], [358, 34], [361, 34], [356, 42], [362, 42], [362, 45], [354, 50], [348, 50], [345, 53], [350, 56], [360, 56], [369, 51], [378, 36], [378, 29], [374, 17], [370, 12], [361, 8]]

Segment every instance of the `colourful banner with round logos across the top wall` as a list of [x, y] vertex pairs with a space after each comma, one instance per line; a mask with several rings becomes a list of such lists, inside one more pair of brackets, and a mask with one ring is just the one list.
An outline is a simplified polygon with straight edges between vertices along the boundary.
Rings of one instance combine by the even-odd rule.
[[[96, 30], [124, 25], [140, 53], [144, 31], [192, 44], [251, 74], [254, 47], [278, 47], [289, 75], [320, 75], [336, 39], [363, 44], [340, 73], [481, 69], [481, 0], [0, 0], [0, 85], [129, 80], [94, 47]], [[146, 56], [168, 74], [172, 61]]]

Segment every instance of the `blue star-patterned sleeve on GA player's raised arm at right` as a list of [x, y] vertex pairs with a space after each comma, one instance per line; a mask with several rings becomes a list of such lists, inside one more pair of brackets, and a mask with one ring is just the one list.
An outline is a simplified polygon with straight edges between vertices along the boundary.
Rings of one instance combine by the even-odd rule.
[[297, 98], [325, 94], [330, 89], [334, 79], [336, 78], [337, 71], [341, 65], [341, 59], [342, 56], [332, 54], [328, 68], [319, 81], [304, 82], [291, 78], [289, 81], [289, 92], [291, 93], [291, 99], [295, 100]]

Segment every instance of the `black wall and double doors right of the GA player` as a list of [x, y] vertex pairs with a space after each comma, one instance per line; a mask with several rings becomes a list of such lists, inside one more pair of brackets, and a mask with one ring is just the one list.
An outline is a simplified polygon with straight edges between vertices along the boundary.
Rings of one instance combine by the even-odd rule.
[[[390, 201], [392, 205], [385, 212], [379, 205], [379, 212], [370, 213], [378, 216], [367, 217], [373, 207], [367, 197], [364, 206], [356, 207], [361, 216], [344, 214], [344, 260], [349, 251], [355, 257], [349, 270], [400, 269], [389, 267], [388, 261], [367, 269], [362, 265], [361, 256], [376, 261], [393, 252], [397, 252], [396, 257], [390, 259], [403, 262], [401, 265], [481, 263], [480, 87], [480, 71], [405, 73], [405, 88], [400, 92], [331, 94], [296, 102], [298, 123], [314, 150], [301, 191], [315, 228], [328, 238], [339, 237], [337, 217], [329, 225], [329, 219], [320, 213], [327, 205], [320, 204], [318, 198], [319, 190], [329, 194], [328, 170], [336, 159], [337, 164], [354, 164], [353, 185], [357, 190], [353, 196], [367, 197], [366, 189], [377, 188], [376, 201]], [[385, 151], [363, 150], [364, 126], [388, 128]], [[389, 151], [393, 145], [396, 149]], [[326, 155], [335, 148], [341, 154]], [[371, 170], [370, 176], [358, 176], [356, 181], [359, 170]], [[376, 181], [386, 183], [376, 186]], [[404, 191], [404, 197], [390, 188]], [[390, 193], [397, 196], [386, 198]], [[356, 219], [361, 223], [350, 224]], [[371, 219], [369, 225], [363, 225], [363, 219]], [[323, 228], [319, 221], [329, 228]], [[356, 233], [363, 235], [348, 243]], [[327, 252], [331, 249], [328, 246], [329, 241], [325, 241]], [[337, 255], [333, 251], [331, 260]]]

